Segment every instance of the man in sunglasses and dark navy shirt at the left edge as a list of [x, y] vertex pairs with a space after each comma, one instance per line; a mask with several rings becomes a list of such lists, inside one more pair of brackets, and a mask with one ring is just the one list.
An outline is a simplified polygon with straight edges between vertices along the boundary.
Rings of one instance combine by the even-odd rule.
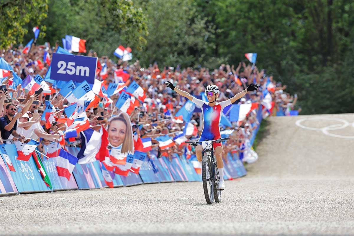
[[19, 135], [16, 132], [17, 129], [17, 119], [22, 117], [22, 111], [16, 113], [16, 107], [12, 103], [6, 105], [6, 114], [5, 116], [0, 118], [0, 131], [1, 131], [1, 138], [3, 140], [8, 139], [10, 134], [12, 134], [14, 140], [17, 138], [25, 138], [23, 135]]

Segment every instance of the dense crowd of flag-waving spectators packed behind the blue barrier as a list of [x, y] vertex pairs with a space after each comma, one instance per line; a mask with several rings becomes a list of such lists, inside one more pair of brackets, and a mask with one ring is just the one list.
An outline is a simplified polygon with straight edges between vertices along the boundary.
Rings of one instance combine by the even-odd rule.
[[[0, 144], [6, 140], [21, 140], [35, 139], [40, 141], [39, 150], [43, 145], [48, 145], [51, 142], [61, 141], [61, 132], [64, 132], [68, 127], [65, 123], [60, 122], [60, 119], [65, 119], [67, 114], [64, 108], [67, 108], [70, 103], [61, 94], [55, 86], [50, 82], [47, 84], [56, 91], [50, 95], [51, 104], [55, 107], [53, 121], [46, 126], [46, 120], [41, 119], [45, 110], [46, 96], [44, 93], [29, 94], [29, 91], [24, 90], [21, 84], [16, 87], [12, 86], [12, 73], [16, 73], [22, 80], [27, 76], [33, 77], [40, 75], [45, 77], [48, 70], [47, 61], [43, 60], [44, 52], [52, 55], [56, 51], [56, 47], [46, 45], [32, 45], [28, 53], [23, 53], [23, 46], [18, 48], [9, 47], [6, 50], [0, 51], [0, 56], [12, 67], [13, 72], [9, 76], [1, 78], [2, 89], [0, 91], [0, 129], [1, 139]], [[87, 56], [97, 57], [97, 53], [92, 50], [87, 53]], [[174, 86], [181, 90], [189, 92], [192, 96], [200, 96], [205, 91], [205, 87], [209, 84], [215, 84], [219, 87], [219, 101], [223, 101], [233, 97], [241, 92], [249, 84], [256, 83], [259, 85], [259, 90], [247, 94], [239, 99], [235, 104], [258, 104], [258, 109], [262, 109], [264, 99], [264, 90], [267, 90], [272, 98], [273, 105], [271, 109], [266, 111], [267, 115], [289, 115], [294, 110], [297, 96], [291, 96], [286, 92], [286, 85], [277, 82], [273, 76], [265, 74], [265, 70], [259, 70], [257, 67], [247, 65], [245, 62], [240, 62], [235, 68], [234, 65], [221, 64], [219, 68], [181, 68], [166, 66], [159, 67], [155, 62], [147, 68], [141, 67], [139, 61], [133, 63], [122, 62], [115, 63], [107, 56], [98, 58], [101, 65], [107, 67], [107, 73], [97, 73], [96, 79], [104, 81], [105, 86], [110, 83], [117, 83], [115, 71], [124, 69], [129, 74], [129, 80], [135, 81], [144, 90], [147, 98], [144, 103], [140, 103], [130, 114], [130, 122], [134, 136], [140, 138], [152, 138], [152, 148], [158, 150], [158, 157], [167, 156], [174, 157], [174, 154], [185, 154], [187, 151], [193, 155], [193, 148], [185, 148], [186, 145], [178, 145], [177, 143], [167, 149], [159, 148], [156, 138], [165, 136], [166, 134], [175, 137], [178, 133], [184, 130], [188, 125], [175, 117], [176, 113], [187, 102], [184, 97], [166, 88], [165, 81], [169, 80]], [[102, 68], [101, 68], [102, 69]], [[113, 114], [119, 114], [119, 110], [114, 108], [116, 100], [119, 98], [119, 93], [110, 97], [113, 100], [113, 105], [104, 107], [96, 104], [94, 107], [86, 110], [86, 115], [90, 122], [90, 127], [97, 128], [108, 126], [109, 117]], [[48, 97], [47, 97], [48, 99]], [[103, 97], [101, 98], [103, 101]], [[169, 112], [166, 112], [169, 110]], [[301, 108], [298, 110], [300, 111]], [[268, 113], [268, 114], [267, 114]], [[196, 127], [198, 133], [186, 134], [187, 139], [197, 139], [201, 133], [201, 113], [194, 112], [190, 123]], [[232, 127], [221, 125], [221, 131], [232, 130], [229, 133], [230, 139], [224, 145], [223, 152], [237, 152], [242, 159], [243, 152], [250, 148], [247, 144], [252, 137], [252, 133], [259, 126], [257, 120], [257, 110], [252, 110], [247, 114], [244, 120], [232, 122]], [[4, 141], [5, 140], [5, 141]], [[80, 146], [81, 141], [79, 136], [75, 140], [66, 140], [66, 145]], [[148, 153], [149, 156], [149, 153]], [[223, 155], [225, 156], [225, 155]]]

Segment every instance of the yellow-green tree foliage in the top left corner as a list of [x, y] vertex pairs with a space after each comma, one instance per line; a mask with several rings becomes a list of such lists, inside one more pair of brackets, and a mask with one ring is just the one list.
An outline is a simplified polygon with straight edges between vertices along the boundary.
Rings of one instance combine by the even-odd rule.
[[[40, 26], [39, 38], [45, 36], [41, 22], [47, 17], [48, 0], [0, 0], [0, 48], [18, 44], [32, 27]], [[33, 37], [32, 37], [33, 38]]]

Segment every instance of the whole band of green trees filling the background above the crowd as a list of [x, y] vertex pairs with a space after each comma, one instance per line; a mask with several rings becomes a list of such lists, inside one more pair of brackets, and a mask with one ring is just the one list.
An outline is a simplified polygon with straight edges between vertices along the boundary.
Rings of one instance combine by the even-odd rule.
[[0, 47], [28, 42], [42, 25], [52, 44], [73, 35], [111, 58], [122, 44], [142, 65], [216, 68], [257, 52], [257, 67], [299, 94], [302, 114], [354, 112], [352, 0], [0, 2]]

